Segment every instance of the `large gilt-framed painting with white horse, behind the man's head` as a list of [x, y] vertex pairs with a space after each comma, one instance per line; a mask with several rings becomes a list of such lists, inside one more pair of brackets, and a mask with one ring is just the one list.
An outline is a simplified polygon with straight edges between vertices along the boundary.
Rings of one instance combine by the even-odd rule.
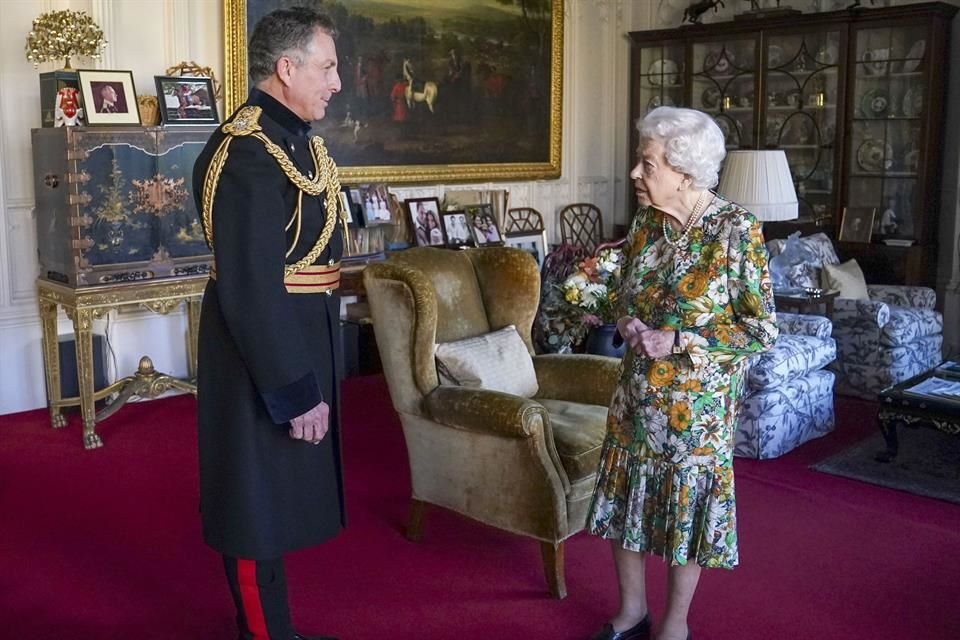
[[[228, 113], [247, 98], [254, 26], [291, 4], [224, 0]], [[560, 177], [562, 0], [339, 0], [324, 6], [331, 7], [340, 32], [343, 88], [314, 132], [342, 179], [399, 184]]]

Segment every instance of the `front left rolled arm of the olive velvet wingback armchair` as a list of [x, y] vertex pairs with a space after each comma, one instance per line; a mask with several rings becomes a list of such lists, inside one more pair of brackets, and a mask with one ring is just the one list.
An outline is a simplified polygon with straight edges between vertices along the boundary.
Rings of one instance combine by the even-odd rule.
[[535, 400], [477, 387], [440, 385], [423, 399], [434, 422], [513, 438], [529, 438], [549, 424]]

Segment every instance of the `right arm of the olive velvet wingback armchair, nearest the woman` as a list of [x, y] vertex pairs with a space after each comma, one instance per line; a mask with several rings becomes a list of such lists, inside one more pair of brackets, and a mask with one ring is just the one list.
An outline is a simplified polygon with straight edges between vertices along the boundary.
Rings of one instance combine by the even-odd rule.
[[546, 354], [533, 357], [537, 398], [609, 406], [617, 386], [620, 361], [587, 354]]

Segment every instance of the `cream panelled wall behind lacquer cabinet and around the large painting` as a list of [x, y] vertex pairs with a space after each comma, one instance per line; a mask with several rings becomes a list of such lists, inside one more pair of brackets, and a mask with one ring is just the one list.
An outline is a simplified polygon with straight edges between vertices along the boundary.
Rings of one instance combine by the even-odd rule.
[[[564, 41], [563, 171], [559, 180], [477, 185], [510, 190], [511, 206], [536, 207], [555, 239], [556, 213], [587, 201], [604, 212], [608, 231], [627, 218], [622, 158], [627, 141], [627, 42], [635, 7], [623, 0], [567, 0]], [[222, 0], [3, 0], [0, 21], [0, 414], [46, 404], [33, 220], [30, 129], [40, 125], [37, 74], [23, 53], [32, 20], [54, 9], [87, 11], [109, 44], [98, 62], [74, 66], [131, 69], [140, 93], [153, 76], [182, 60], [210, 65], [223, 78]], [[405, 190], [415, 192], [416, 189]], [[117, 314], [114, 314], [116, 316]], [[102, 328], [102, 327], [101, 327]], [[61, 317], [61, 333], [69, 322]], [[119, 375], [143, 354], [159, 370], [184, 375], [183, 313], [122, 313], [110, 322]]]

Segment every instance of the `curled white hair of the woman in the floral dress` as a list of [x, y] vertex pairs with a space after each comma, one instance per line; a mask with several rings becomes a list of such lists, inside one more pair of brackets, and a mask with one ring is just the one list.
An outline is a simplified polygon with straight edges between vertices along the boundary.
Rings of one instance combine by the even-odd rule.
[[727, 155], [723, 132], [713, 118], [696, 109], [657, 107], [637, 121], [640, 144], [663, 145], [670, 166], [690, 176], [697, 189], [715, 187]]

